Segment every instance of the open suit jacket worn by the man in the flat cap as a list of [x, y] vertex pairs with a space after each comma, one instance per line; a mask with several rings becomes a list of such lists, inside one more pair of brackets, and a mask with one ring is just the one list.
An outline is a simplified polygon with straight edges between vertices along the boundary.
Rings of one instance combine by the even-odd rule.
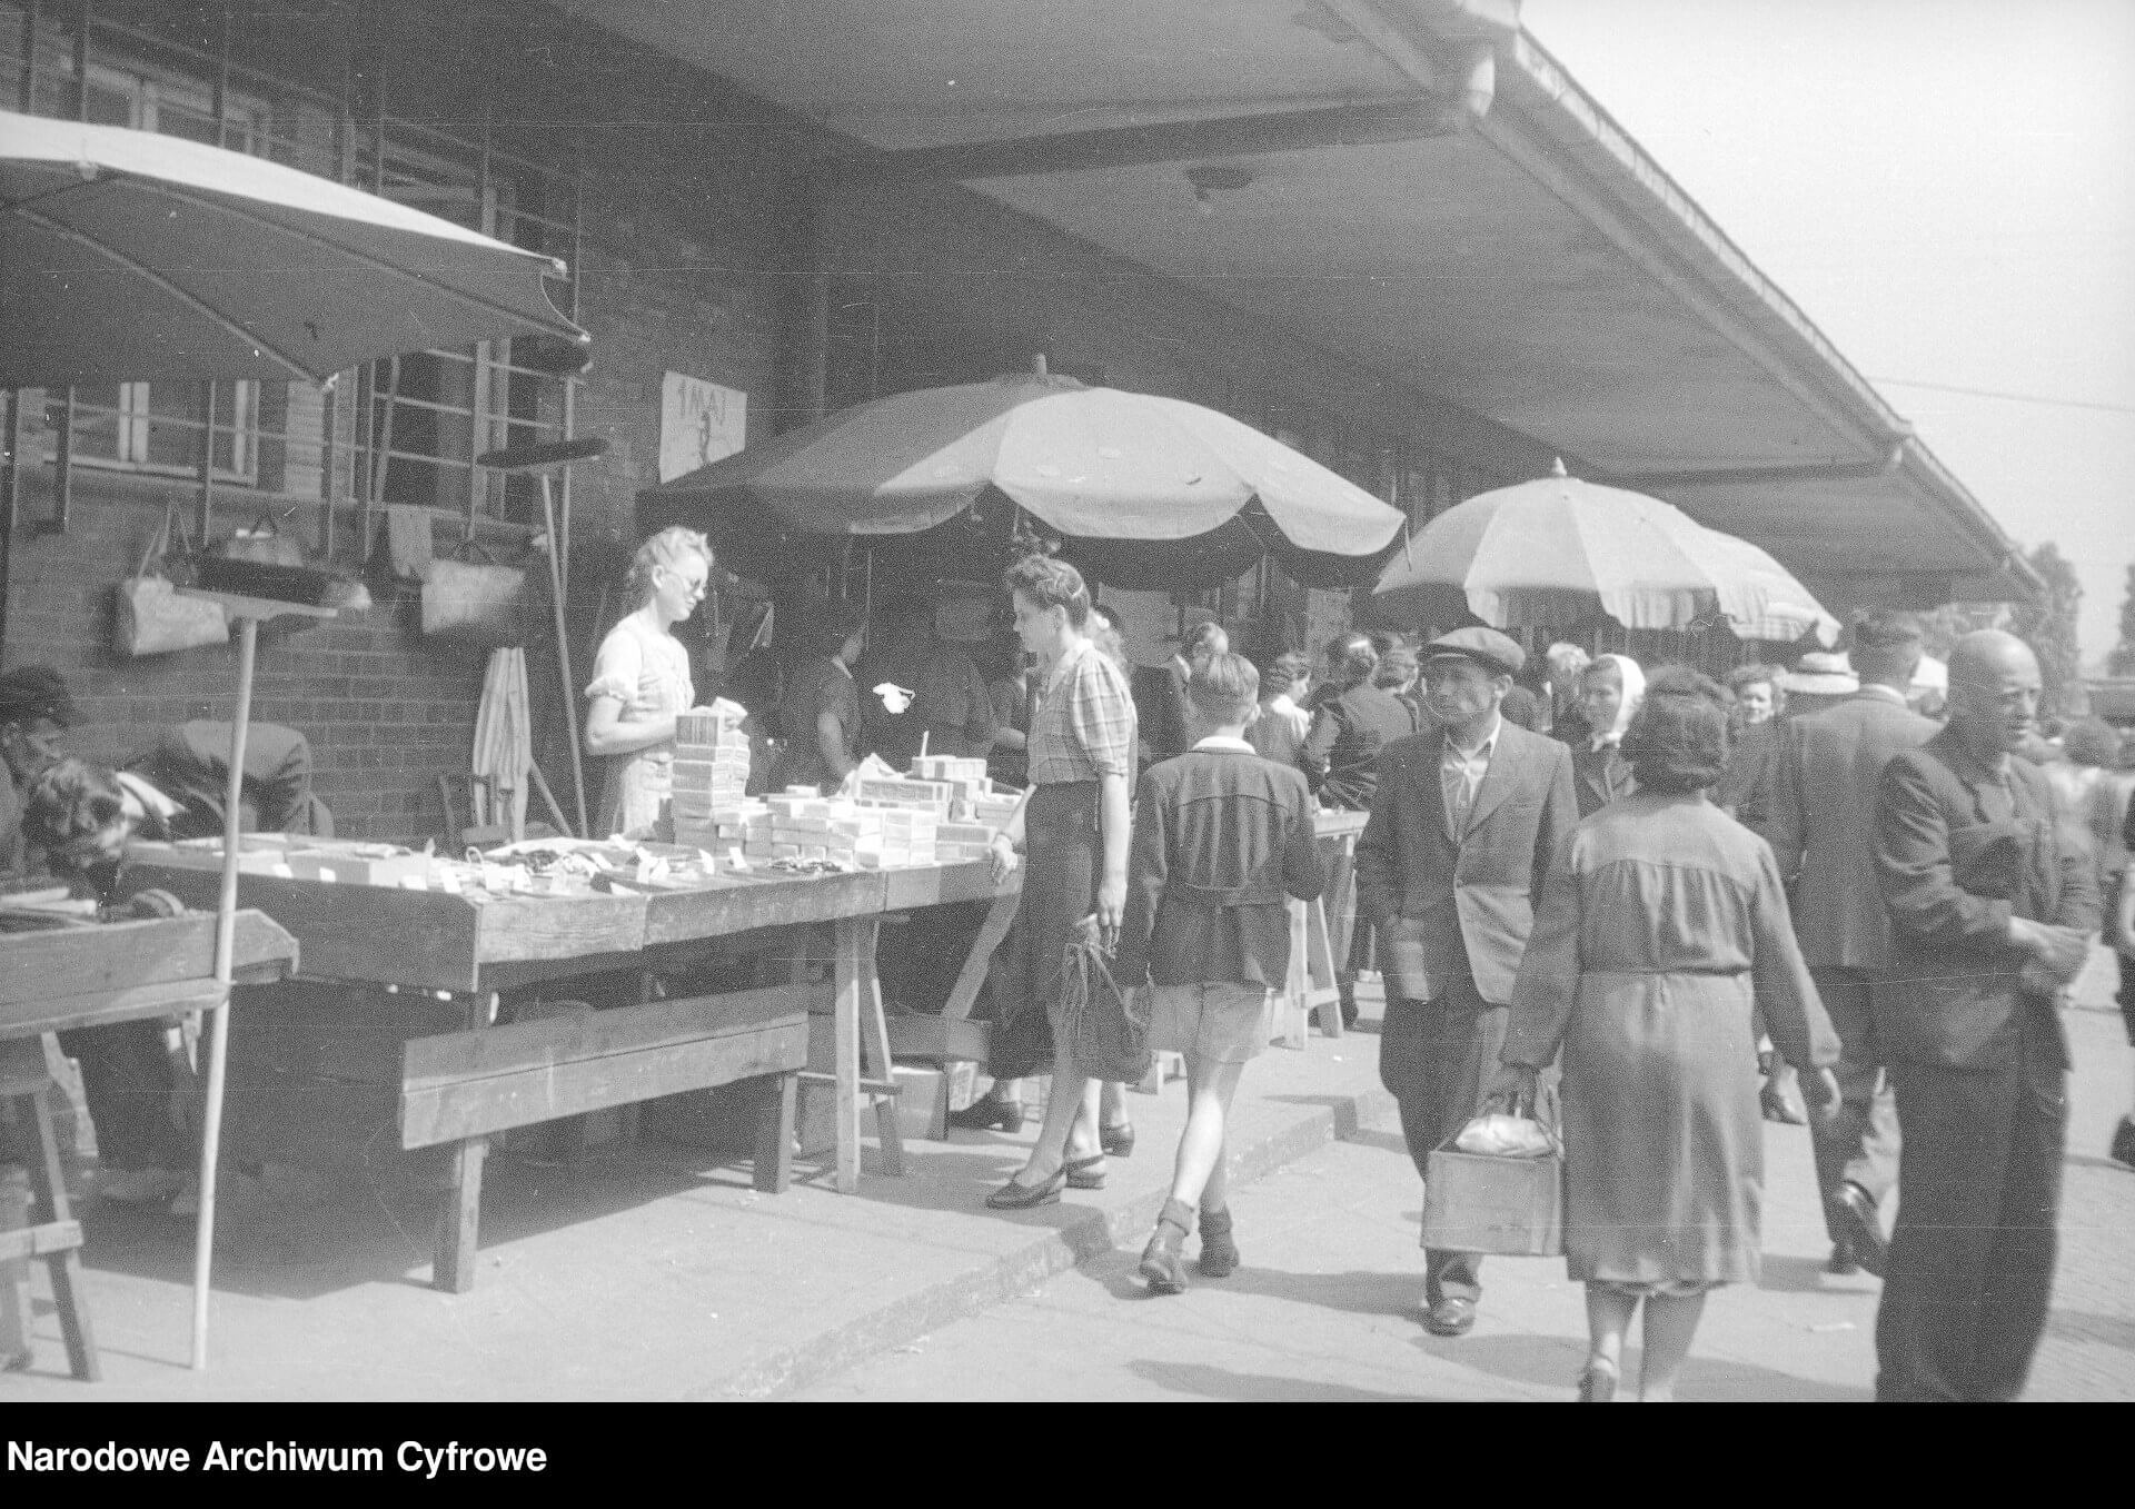
[[1390, 995], [1437, 1001], [1469, 975], [1484, 1001], [1505, 1003], [1541, 877], [1580, 820], [1571, 751], [1503, 724], [1460, 835], [1445, 830], [1441, 756], [1437, 732], [1379, 753], [1356, 843], [1358, 911], [1383, 928]]

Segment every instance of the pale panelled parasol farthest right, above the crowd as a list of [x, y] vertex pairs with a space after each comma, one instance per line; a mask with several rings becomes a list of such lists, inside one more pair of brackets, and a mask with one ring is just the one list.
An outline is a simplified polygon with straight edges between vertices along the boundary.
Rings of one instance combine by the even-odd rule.
[[1691, 630], [1725, 617], [1742, 638], [1823, 642], [1838, 621], [1749, 540], [1620, 487], [1552, 476], [1501, 487], [1424, 525], [1379, 574], [1373, 613], [1407, 623]]

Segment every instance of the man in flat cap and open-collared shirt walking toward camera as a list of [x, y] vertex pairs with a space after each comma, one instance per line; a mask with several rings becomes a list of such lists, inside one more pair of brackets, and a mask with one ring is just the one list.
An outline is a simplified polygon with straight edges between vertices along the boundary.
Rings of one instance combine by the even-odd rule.
[[[1497, 630], [1424, 647], [1433, 728], [1381, 751], [1356, 845], [1358, 911], [1379, 928], [1386, 973], [1379, 1080], [1426, 1176], [1430, 1150], [1482, 1103], [1541, 877], [1578, 824], [1571, 751], [1499, 711], [1522, 660]], [[1475, 1323], [1480, 1276], [1475, 1253], [1426, 1251], [1433, 1334]]]

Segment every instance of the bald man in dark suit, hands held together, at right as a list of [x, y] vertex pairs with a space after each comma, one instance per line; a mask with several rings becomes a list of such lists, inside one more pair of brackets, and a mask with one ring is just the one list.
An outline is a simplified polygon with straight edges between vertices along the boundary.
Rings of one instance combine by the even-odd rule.
[[1877, 1044], [1898, 1082], [1898, 1229], [1877, 1311], [1877, 1398], [2009, 1400], [2045, 1330], [2067, 1142], [2058, 990], [2099, 926], [2090, 856], [2054, 788], [2011, 760], [2039, 662], [1983, 630], [1949, 655], [1949, 726], [1877, 790], [1892, 969]]

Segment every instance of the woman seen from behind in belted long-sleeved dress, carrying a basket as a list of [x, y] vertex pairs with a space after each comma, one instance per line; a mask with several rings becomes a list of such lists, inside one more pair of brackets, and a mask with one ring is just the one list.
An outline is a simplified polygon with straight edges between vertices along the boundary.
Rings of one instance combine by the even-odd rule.
[[1772, 845], [1706, 800], [1727, 764], [1721, 689], [1661, 672], [1623, 753], [1638, 792], [1559, 849], [1486, 1099], [1533, 1103], [1563, 1050], [1565, 1266], [1586, 1285], [1586, 1402], [1614, 1398], [1640, 1304], [1640, 1400], [1672, 1400], [1706, 1291], [1757, 1283], [1755, 999], [1781, 1048], [1810, 1065], [1819, 1112], [1838, 1106], [1838, 1035]]

